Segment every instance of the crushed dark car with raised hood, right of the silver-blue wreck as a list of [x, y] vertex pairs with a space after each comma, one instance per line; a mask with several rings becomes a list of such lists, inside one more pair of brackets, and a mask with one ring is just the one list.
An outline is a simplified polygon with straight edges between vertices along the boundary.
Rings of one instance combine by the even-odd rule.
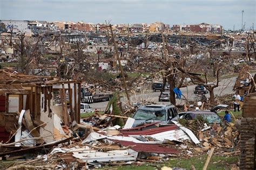
[[187, 120], [192, 120], [197, 118], [198, 116], [203, 116], [203, 118], [207, 119], [208, 123], [216, 122], [218, 124], [221, 124], [222, 120], [220, 116], [217, 114], [217, 111], [227, 107], [228, 105], [226, 104], [219, 104], [213, 107], [211, 110], [192, 110], [192, 111], [180, 112], [178, 115], [180, 118], [184, 118]]

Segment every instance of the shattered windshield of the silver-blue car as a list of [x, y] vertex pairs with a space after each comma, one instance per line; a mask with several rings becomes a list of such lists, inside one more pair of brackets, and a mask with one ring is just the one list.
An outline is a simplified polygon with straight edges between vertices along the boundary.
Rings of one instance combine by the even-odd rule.
[[165, 110], [143, 110], [138, 109], [133, 116], [134, 119], [139, 120], [157, 120], [157, 121], [165, 121], [166, 120], [166, 111]]

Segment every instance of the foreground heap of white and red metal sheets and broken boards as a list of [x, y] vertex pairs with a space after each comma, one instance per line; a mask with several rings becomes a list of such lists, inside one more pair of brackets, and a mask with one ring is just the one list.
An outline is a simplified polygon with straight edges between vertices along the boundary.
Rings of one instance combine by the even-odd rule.
[[[66, 127], [62, 129], [64, 131]], [[159, 162], [180, 153], [174, 148], [177, 143], [190, 141], [199, 144], [197, 137], [177, 122], [176, 125], [151, 123], [136, 128], [129, 128], [128, 123], [123, 129], [116, 125], [100, 130], [75, 122], [66, 130], [71, 129], [72, 137], [67, 135], [55, 143], [30, 147], [21, 141], [14, 147], [15, 151], [2, 152], [1, 156], [6, 160], [25, 159], [26, 162], [12, 165], [19, 168], [92, 168]], [[1, 148], [6, 150], [11, 145], [2, 144]]]

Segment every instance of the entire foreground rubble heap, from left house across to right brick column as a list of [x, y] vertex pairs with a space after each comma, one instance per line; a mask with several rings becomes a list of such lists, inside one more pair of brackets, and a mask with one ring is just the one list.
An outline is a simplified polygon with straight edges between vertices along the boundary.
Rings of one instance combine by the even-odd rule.
[[180, 122], [184, 125], [172, 121], [172, 124], [156, 122], [132, 128], [131, 119], [123, 116], [127, 119], [123, 128], [106, 126], [113, 117], [115, 115], [96, 115], [80, 124], [74, 121], [70, 127], [62, 126], [66, 135], [53, 143], [28, 146], [24, 140], [16, 147], [13, 143], [1, 144], [4, 150], [8, 147], [15, 150], [0, 155], [6, 160], [25, 160], [11, 164], [12, 168], [99, 168], [192, 157], [207, 153], [212, 147], [214, 154], [240, 153], [239, 127], [232, 123], [207, 125], [195, 119]]

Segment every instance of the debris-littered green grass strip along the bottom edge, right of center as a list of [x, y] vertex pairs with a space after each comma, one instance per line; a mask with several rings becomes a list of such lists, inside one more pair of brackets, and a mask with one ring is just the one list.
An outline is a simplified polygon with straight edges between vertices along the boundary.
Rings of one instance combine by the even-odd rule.
[[[207, 167], [208, 170], [211, 169], [230, 169], [232, 165], [237, 164], [238, 156], [235, 157], [222, 157], [218, 155], [213, 155], [210, 163]], [[167, 167], [178, 167], [178, 168], [186, 168], [190, 169], [191, 165], [193, 165], [196, 169], [203, 169], [205, 161], [207, 159], [207, 155], [194, 156], [191, 158], [171, 158], [169, 161], [165, 161], [162, 164], [152, 164], [150, 162], [146, 162], [144, 165], [136, 166], [119, 166], [118, 170], [123, 169], [159, 169], [159, 167], [167, 166]], [[114, 167], [113, 167], [114, 168]]]

